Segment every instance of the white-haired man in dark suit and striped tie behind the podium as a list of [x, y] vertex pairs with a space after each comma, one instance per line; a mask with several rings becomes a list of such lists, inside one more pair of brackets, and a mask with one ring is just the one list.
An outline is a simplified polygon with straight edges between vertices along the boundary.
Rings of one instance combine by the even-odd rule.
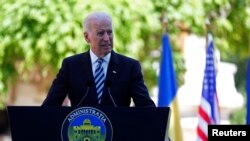
[[63, 60], [42, 106], [60, 106], [68, 96], [72, 106], [130, 106], [132, 98], [135, 106], [155, 107], [139, 62], [113, 51], [111, 17], [95, 12], [83, 26], [90, 50]]

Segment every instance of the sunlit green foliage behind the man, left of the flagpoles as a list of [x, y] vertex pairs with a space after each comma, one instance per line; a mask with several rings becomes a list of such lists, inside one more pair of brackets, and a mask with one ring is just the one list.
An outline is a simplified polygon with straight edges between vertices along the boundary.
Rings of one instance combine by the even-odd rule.
[[[1, 94], [7, 92], [8, 83], [14, 82], [9, 81], [16, 76], [28, 79], [34, 66], [46, 74], [50, 68], [57, 70], [64, 57], [87, 50], [82, 20], [92, 11], [106, 11], [114, 17], [115, 50], [120, 53], [144, 59], [160, 44], [151, 36], [161, 26], [159, 13], [150, 1], [4, 0], [0, 5]], [[147, 51], [142, 52], [144, 48]]]

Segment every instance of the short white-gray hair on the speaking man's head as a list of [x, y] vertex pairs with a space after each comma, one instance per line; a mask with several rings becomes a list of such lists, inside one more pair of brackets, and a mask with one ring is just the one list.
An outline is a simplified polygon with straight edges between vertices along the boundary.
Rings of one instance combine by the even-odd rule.
[[83, 21], [83, 31], [87, 32], [90, 31], [90, 21], [96, 19], [96, 20], [108, 20], [110, 23], [112, 23], [112, 18], [109, 14], [105, 12], [93, 12], [89, 14], [85, 20]]

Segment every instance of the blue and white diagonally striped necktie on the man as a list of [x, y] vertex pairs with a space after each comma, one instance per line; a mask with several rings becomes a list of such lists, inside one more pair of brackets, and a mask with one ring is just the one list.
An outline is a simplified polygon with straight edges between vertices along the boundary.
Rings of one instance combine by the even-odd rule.
[[104, 70], [102, 67], [103, 59], [99, 58], [97, 60], [97, 66], [95, 69], [95, 85], [96, 85], [96, 93], [97, 93], [97, 98], [98, 98], [98, 103], [101, 103], [101, 98], [102, 98], [102, 90], [104, 87], [104, 81], [105, 81], [105, 75], [104, 75]]

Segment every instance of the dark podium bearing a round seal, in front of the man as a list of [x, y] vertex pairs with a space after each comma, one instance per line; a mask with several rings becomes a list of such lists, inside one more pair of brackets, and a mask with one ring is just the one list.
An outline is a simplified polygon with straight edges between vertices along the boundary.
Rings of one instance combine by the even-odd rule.
[[8, 106], [13, 141], [165, 141], [169, 107]]

